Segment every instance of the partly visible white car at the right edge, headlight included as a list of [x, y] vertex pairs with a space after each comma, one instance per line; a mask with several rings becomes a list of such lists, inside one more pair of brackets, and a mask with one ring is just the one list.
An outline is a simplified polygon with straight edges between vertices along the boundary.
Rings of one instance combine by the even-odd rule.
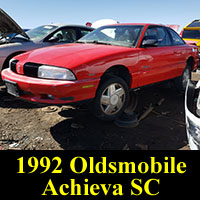
[[190, 148], [200, 150], [200, 73], [189, 80], [185, 93], [186, 130]]

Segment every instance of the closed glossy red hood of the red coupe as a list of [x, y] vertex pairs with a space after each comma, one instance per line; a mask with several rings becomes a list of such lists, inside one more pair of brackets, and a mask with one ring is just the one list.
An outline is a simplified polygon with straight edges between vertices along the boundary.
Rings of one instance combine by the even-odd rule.
[[112, 60], [111, 55], [124, 58], [123, 53], [133, 52], [133, 48], [100, 44], [66, 44], [36, 49], [15, 57], [20, 62], [73, 68], [82, 64], [101, 62], [101, 58]]

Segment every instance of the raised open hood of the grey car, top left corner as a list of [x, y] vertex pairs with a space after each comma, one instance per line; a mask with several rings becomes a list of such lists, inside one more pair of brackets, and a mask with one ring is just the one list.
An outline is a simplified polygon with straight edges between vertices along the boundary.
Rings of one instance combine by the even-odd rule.
[[0, 33], [2, 38], [6, 38], [11, 33], [16, 33], [30, 39], [22, 28], [2, 9], [0, 9]]

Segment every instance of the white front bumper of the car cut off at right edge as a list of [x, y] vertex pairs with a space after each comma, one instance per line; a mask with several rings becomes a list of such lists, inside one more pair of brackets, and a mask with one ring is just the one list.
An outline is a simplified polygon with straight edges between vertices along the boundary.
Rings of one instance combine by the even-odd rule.
[[200, 117], [193, 113], [196, 92], [198, 90], [195, 84], [188, 81], [185, 92], [185, 118], [188, 143], [192, 150], [200, 150]]

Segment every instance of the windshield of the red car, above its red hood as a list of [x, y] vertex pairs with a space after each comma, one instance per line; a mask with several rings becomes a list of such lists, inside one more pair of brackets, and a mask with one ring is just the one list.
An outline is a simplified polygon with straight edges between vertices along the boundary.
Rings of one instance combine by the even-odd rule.
[[133, 47], [143, 26], [104, 26], [82, 37], [78, 42]]

